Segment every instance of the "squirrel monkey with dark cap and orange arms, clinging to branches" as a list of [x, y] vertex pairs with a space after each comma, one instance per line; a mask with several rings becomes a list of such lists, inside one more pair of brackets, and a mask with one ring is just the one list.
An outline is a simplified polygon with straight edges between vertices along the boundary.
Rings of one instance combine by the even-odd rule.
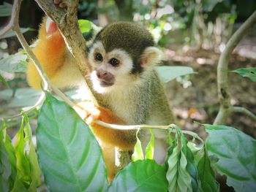
[[[82, 84], [85, 78], [91, 80], [101, 105], [94, 107], [99, 112], [94, 119], [123, 125], [168, 125], [174, 122], [164, 88], [154, 69], [162, 59], [162, 52], [154, 47], [153, 37], [143, 26], [117, 22], [94, 34], [88, 43], [88, 61], [92, 68], [89, 77], [83, 77], [78, 66], [73, 64], [75, 58], [69, 53], [56, 23], [49, 18], [43, 20], [38, 39], [33, 51], [54, 85], [65, 88]], [[27, 79], [31, 87], [40, 88], [41, 79], [31, 61]], [[102, 145], [108, 176], [113, 178], [114, 147], [132, 150], [136, 131], [91, 126]], [[154, 134], [154, 158], [163, 163], [168, 147], [167, 132], [159, 130]], [[149, 131], [142, 131], [140, 139], [146, 147]]]

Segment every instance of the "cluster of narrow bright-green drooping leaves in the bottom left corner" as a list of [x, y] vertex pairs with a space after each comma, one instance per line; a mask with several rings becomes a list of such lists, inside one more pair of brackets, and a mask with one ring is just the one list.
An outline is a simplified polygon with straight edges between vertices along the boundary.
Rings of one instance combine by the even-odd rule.
[[[40, 185], [40, 169], [37, 155], [32, 143], [29, 118], [23, 115], [18, 133], [11, 139], [6, 134], [6, 127], [1, 128], [1, 172], [0, 187], [2, 191], [36, 191]], [[13, 145], [12, 145], [13, 143]]]

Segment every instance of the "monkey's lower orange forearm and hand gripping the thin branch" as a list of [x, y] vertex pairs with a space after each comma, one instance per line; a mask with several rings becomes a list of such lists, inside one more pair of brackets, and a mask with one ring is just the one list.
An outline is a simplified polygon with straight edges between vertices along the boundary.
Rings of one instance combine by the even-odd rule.
[[102, 120], [105, 123], [125, 125], [124, 120], [121, 120], [113, 112], [103, 107], [94, 106], [90, 102], [78, 104], [80, 109], [86, 112], [87, 120], [86, 122], [92, 128], [94, 135], [102, 142], [108, 143], [121, 150], [133, 150], [136, 142], [134, 131], [121, 131], [112, 128], [107, 128], [105, 126], [99, 126], [94, 123], [94, 120]]

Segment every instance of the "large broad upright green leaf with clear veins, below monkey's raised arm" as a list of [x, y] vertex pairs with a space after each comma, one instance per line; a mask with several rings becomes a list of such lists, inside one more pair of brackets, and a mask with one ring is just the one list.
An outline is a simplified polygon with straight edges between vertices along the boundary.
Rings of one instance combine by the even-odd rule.
[[37, 153], [50, 191], [106, 191], [102, 151], [89, 126], [49, 93], [38, 118]]

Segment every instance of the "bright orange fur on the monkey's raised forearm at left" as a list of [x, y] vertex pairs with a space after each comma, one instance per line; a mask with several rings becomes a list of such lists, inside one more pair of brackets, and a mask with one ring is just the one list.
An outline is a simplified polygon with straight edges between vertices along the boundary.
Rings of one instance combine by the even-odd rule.
[[[51, 79], [58, 73], [59, 68], [64, 65], [67, 47], [58, 29], [50, 35], [47, 34], [46, 20], [47, 17], [43, 19], [39, 28], [39, 39], [33, 52], [42, 65], [42, 69]], [[35, 89], [41, 88], [41, 77], [31, 60], [29, 61], [27, 80], [31, 87]]]

